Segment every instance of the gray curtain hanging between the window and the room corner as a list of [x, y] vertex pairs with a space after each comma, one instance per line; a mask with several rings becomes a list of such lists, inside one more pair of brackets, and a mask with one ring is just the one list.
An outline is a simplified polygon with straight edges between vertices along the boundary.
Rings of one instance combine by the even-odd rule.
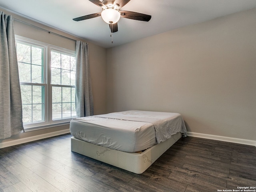
[[92, 86], [88, 59], [88, 44], [76, 41], [76, 115], [93, 115]]

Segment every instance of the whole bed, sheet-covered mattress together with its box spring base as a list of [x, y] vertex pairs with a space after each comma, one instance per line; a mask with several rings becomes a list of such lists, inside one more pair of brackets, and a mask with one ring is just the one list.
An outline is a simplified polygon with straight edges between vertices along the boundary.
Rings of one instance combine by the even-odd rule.
[[136, 174], [187, 136], [180, 114], [140, 110], [75, 118], [70, 133], [73, 152]]

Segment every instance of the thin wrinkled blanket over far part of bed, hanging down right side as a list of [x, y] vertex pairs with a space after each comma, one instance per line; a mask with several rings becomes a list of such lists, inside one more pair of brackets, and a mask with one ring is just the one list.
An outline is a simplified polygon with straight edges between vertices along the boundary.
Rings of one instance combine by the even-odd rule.
[[154, 125], [156, 141], [158, 143], [167, 140], [172, 134], [176, 134], [177, 132], [181, 132], [183, 137], [187, 136], [184, 120], [178, 113], [129, 110], [96, 116], [151, 123]]

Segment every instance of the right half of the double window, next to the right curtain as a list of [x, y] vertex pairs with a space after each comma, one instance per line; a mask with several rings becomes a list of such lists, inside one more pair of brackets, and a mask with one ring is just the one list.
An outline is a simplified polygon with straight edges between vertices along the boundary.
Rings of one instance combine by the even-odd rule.
[[76, 116], [76, 58], [51, 51], [52, 120]]

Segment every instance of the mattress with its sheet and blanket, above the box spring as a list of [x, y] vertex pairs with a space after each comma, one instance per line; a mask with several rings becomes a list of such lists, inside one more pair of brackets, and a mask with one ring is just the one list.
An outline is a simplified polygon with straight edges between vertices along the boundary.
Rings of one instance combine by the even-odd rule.
[[186, 136], [180, 114], [129, 110], [75, 118], [70, 122], [74, 138], [124, 152], [142, 151], [173, 134]]

